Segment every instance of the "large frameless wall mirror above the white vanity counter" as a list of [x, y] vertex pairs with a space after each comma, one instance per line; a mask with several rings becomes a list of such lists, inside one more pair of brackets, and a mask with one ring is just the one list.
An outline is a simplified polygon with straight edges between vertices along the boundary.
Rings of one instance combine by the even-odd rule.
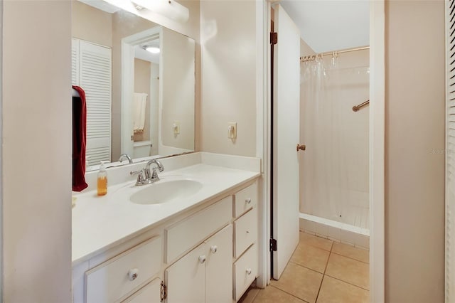
[[87, 97], [87, 171], [121, 154], [194, 151], [192, 38], [104, 1], [73, 1], [73, 85]]

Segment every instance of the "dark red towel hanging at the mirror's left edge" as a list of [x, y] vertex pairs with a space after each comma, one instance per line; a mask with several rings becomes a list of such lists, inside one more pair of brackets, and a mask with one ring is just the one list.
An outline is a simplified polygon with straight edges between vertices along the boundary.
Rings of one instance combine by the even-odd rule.
[[85, 92], [73, 85], [80, 97], [73, 97], [73, 191], [87, 188], [85, 182], [85, 147], [87, 144], [87, 105]]

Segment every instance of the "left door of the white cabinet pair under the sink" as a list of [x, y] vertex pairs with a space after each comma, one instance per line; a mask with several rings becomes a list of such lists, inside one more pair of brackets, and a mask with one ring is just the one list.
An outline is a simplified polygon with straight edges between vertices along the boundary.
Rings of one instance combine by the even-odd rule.
[[203, 243], [168, 267], [165, 272], [168, 303], [205, 302], [206, 257]]

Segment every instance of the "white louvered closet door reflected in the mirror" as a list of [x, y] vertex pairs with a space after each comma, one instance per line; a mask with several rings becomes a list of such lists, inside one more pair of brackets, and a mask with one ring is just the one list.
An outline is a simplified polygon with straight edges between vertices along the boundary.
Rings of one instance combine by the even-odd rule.
[[89, 165], [111, 160], [112, 51], [80, 41], [79, 85], [87, 100]]

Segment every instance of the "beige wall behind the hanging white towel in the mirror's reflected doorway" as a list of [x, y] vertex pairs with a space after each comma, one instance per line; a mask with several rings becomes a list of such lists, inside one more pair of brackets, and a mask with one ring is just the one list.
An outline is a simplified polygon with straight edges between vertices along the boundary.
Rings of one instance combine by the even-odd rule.
[[134, 134], [134, 142], [150, 140], [150, 85], [151, 63], [149, 61], [134, 58], [134, 92], [145, 92], [147, 94], [144, 132]]

